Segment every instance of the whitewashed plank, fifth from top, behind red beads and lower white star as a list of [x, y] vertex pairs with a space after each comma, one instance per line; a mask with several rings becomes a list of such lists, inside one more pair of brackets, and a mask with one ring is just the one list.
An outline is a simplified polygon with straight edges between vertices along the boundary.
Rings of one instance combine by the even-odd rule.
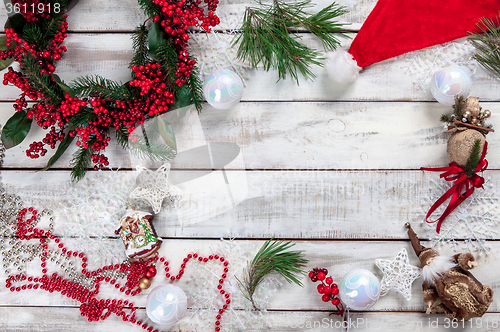
[[[64, 239], [64, 243], [68, 248], [71, 248], [71, 243], [74, 241], [85, 241], [77, 239]], [[103, 241], [121, 241], [121, 240], [104, 240]], [[238, 240], [236, 241], [239, 245], [244, 245], [247, 242]], [[397, 253], [402, 249], [406, 248], [409, 254], [410, 263], [413, 265], [418, 265], [418, 258], [413, 253], [409, 241], [294, 241], [296, 246], [294, 249], [303, 250], [305, 257], [309, 260], [307, 264], [308, 269], [314, 267], [327, 268], [329, 274], [336, 282], [340, 282], [342, 277], [352, 269], [363, 268], [372, 271], [379, 279], [382, 278], [382, 273], [375, 266], [374, 262], [377, 258], [392, 260], [396, 257]], [[84, 242], [83, 242], [84, 243]], [[255, 245], [253, 252], [250, 252], [248, 256], [254, 255], [258, 248], [262, 245], [262, 241], [252, 241], [251, 244]], [[197, 252], [200, 255], [209, 255], [216, 253], [223, 253], [224, 257], [229, 261], [230, 272], [229, 279], [226, 281], [226, 286], [231, 289], [234, 287], [234, 292], [237, 292], [237, 286], [235, 284], [235, 279], [233, 275], [242, 276], [242, 271], [246, 267], [246, 261], [240, 258], [243, 254], [242, 249], [237, 246], [233, 250], [228, 249], [228, 247], [219, 248], [220, 242], [218, 240], [165, 240], [162, 248], [160, 249], [160, 255], [164, 256], [170, 263], [171, 271], [176, 273], [178, 271], [179, 265], [182, 263], [182, 259], [186, 257], [188, 253]], [[423, 243], [424, 245], [425, 242]], [[80, 243], [82, 245], [82, 243]], [[500, 297], [500, 285], [497, 282], [497, 272], [500, 268], [500, 261], [495, 259], [500, 253], [500, 243], [492, 242], [492, 253], [488, 257], [479, 257], [479, 266], [474, 269], [474, 275], [484, 284], [489, 285], [494, 290], [494, 302], [491, 304], [489, 311], [498, 312], [498, 299]], [[242, 248], [245, 248], [244, 246]], [[451, 255], [454, 252], [449, 248], [439, 249], [443, 255]], [[121, 253], [120, 253], [121, 254]], [[245, 257], [245, 256], [243, 256]], [[119, 260], [116, 259], [115, 263]], [[40, 267], [36, 262], [33, 262], [33, 269], [27, 271], [28, 274], [33, 276], [40, 276]], [[89, 266], [88, 268], [97, 268]], [[199, 278], [200, 273], [197, 269], [201, 268], [198, 263], [191, 262], [187, 264], [185, 268], [184, 277], [176, 282], [176, 284], [184, 288], [188, 294], [192, 291], [193, 278]], [[48, 267], [48, 273], [53, 273], [51, 267]], [[38, 271], [38, 272], [35, 272]], [[214, 294], [217, 294], [215, 286], [218, 281], [217, 268], [214, 268], [214, 274], [207, 276], [206, 273], [201, 274], [207, 278], [207, 287], [214, 288]], [[36, 274], [35, 274], [36, 273]], [[4, 278], [3, 269], [0, 270], [0, 278]], [[213, 283], [212, 283], [213, 281]], [[279, 288], [278, 292], [273, 296], [272, 301], [269, 303], [269, 310], [331, 310], [332, 306], [330, 303], [324, 303], [321, 297], [316, 291], [317, 284], [312, 283], [307, 279], [307, 276], [302, 277], [304, 287], [301, 288], [295, 284], [288, 284], [283, 281], [283, 285]], [[159, 273], [154, 279], [151, 287], [156, 287], [165, 283], [164, 275]], [[386, 296], [380, 298], [373, 307], [369, 308], [367, 311], [413, 311], [413, 312], [423, 312], [424, 303], [422, 301], [421, 295], [421, 279], [417, 279], [412, 287], [412, 298], [410, 301], [405, 300], [399, 293], [395, 291], [390, 291]], [[201, 286], [196, 286], [201, 287]], [[196, 293], [196, 292], [195, 292]], [[78, 306], [79, 304], [71, 299], [68, 299], [57, 292], [48, 293], [42, 290], [36, 291], [21, 291], [21, 292], [10, 292], [7, 289], [2, 291], [2, 296], [0, 297], [0, 305], [2, 306]], [[135, 297], [128, 297], [129, 301], [133, 301], [135, 305], [139, 307], [144, 307], [146, 303], [146, 297], [148, 292], [144, 292], [136, 295]], [[236, 295], [234, 295], [236, 296]], [[99, 298], [127, 298], [123, 293], [120, 293], [114, 287], [108, 284], [103, 284], [100, 288]], [[201, 301], [201, 302], [197, 302]], [[233, 308], [242, 308], [242, 299], [233, 299]], [[201, 304], [200, 304], [201, 303]], [[203, 300], [197, 300], [195, 298], [189, 298], [189, 307], [199, 307], [203, 306]]]

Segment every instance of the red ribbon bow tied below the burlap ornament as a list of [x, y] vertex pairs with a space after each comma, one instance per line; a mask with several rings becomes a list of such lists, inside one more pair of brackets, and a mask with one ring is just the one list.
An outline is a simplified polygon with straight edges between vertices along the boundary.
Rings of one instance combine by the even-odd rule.
[[[484, 178], [482, 176], [477, 175], [476, 173], [483, 172], [488, 167], [488, 161], [484, 159], [486, 156], [486, 150], [488, 147], [488, 143], [484, 143], [483, 153], [481, 155], [481, 159], [474, 170], [474, 175], [468, 177], [465, 174], [465, 170], [458, 166], [455, 163], [450, 163], [448, 167], [438, 167], [438, 168], [425, 168], [421, 167], [420, 169], [423, 171], [431, 171], [431, 172], [444, 172], [439, 177], [444, 178], [446, 181], [455, 181], [453, 187], [450, 188], [443, 196], [441, 196], [429, 209], [427, 215], [425, 216], [425, 221], [432, 224], [437, 222], [436, 232], [439, 233], [441, 230], [441, 224], [444, 219], [448, 217], [448, 215], [453, 212], [462, 202], [472, 195], [475, 188], [483, 188]], [[448, 198], [450, 198], [450, 202], [448, 203], [448, 207], [443, 212], [443, 214], [436, 220], [429, 221], [429, 216]]]

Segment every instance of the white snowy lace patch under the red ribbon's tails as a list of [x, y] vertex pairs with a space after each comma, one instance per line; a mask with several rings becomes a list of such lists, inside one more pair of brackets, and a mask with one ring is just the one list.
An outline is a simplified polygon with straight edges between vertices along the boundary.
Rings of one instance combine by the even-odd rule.
[[[428, 202], [422, 207], [423, 215], [436, 200], [438, 200], [448, 189], [450, 184], [445, 181], [433, 181], [435, 188]], [[495, 187], [490, 179], [485, 181], [484, 189], [476, 189], [474, 193], [460, 204], [443, 222], [441, 231], [436, 233], [436, 224], [427, 224], [429, 229], [428, 238], [432, 242], [432, 247], [436, 244], [447, 243], [454, 251], [466, 251], [470, 253], [488, 254], [491, 246], [486, 241], [498, 236], [500, 213], [499, 198]], [[436, 210], [432, 217], [439, 216], [446, 208], [445, 202]], [[432, 217], [430, 217], [432, 219]], [[436, 218], [436, 217], [434, 217]], [[464, 239], [465, 241], [458, 241]]]

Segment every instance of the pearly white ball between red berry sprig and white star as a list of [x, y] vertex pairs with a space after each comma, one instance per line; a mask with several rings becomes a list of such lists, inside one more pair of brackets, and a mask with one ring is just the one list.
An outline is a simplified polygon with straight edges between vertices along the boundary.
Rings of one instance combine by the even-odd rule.
[[370, 271], [355, 269], [342, 279], [339, 296], [347, 307], [365, 310], [377, 302], [380, 296], [380, 283]]

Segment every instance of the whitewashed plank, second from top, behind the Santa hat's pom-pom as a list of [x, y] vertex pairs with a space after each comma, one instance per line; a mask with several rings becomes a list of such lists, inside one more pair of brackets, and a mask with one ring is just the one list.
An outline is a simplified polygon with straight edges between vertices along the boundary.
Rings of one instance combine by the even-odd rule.
[[[302, 37], [308, 45], [321, 49], [321, 43], [311, 35], [306, 34]], [[230, 36], [222, 35], [219, 38], [226, 45], [231, 42]], [[199, 54], [200, 49], [208, 54], [220, 52], [213, 47], [213, 39], [200, 37], [198, 41], [201, 46], [195, 48], [193, 54]], [[343, 43], [347, 46], [350, 41], [344, 39]], [[78, 76], [93, 74], [122, 82], [130, 79], [127, 68], [132, 58], [132, 43], [129, 34], [71, 34], [66, 39], [65, 45], [68, 52], [57, 67], [57, 74], [62, 79], [71, 81]], [[202, 59], [198, 60], [201, 63]], [[404, 57], [374, 64], [365, 68], [356, 82], [349, 85], [332, 82], [321, 67], [312, 68], [317, 76], [314, 82], [301, 79], [300, 86], [290, 79], [277, 82], [276, 72], [254, 70], [245, 74], [246, 87], [242, 100], [434, 101], [427, 89], [418, 88], [415, 74], [406, 72], [404, 68], [408, 65], [409, 62]], [[421, 73], [420, 76], [425, 76], [425, 73]], [[472, 95], [478, 95], [484, 101], [499, 100], [500, 85], [492, 75], [483, 69], [478, 69], [473, 80]], [[268, 83], [262, 84], [262, 82]], [[17, 88], [2, 87], [0, 100], [15, 100], [18, 94]]]

